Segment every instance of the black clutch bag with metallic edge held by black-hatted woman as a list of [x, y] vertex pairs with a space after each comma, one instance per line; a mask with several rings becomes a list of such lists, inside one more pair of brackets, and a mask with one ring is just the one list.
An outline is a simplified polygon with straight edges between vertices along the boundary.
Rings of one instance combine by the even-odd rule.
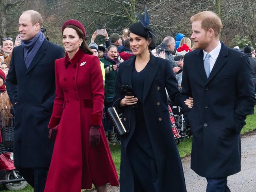
[[119, 114], [117, 113], [115, 107], [109, 107], [108, 114], [112, 124], [117, 129], [119, 135], [124, 135], [125, 133], [128, 132], [128, 130], [124, 127], [124, 124], [122, 123], [121, 118], [119, 117]]

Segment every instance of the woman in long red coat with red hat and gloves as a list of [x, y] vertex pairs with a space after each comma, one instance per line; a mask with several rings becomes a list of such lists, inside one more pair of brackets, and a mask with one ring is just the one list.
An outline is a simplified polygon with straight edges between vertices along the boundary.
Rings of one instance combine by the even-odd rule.
[[[45, 192], [98, 192], [119, 185], [102, 126], [103, 78], [98, 57], [77, 20], [62, 26], [66, 57], [55, 63], [56, 98], [49, 128], [57, 129]], [[57, 126], [57, 127], [56, 127]]]

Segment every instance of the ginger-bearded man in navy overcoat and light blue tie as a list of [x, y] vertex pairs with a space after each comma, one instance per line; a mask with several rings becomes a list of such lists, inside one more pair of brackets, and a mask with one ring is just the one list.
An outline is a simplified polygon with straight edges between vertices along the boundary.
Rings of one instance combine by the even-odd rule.
[[254, 107], [252, 69], [247, 55], [219, 41], [215, 13], [190, 20], [195, 51], [184, 57], [182, 97], [194, 99], [185, 111], [193, 133], [191, 169], [206, 177], [207, 192], [229, 192], [227, 176], [241, 170], [240, 131]]

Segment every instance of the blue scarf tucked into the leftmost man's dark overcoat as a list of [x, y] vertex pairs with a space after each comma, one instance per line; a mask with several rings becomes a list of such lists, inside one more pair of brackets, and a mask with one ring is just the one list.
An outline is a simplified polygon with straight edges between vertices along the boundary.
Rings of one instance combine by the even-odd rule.
[[21, 45], [24, 47], [24, 61], [27, 69], [32, 63], [44, 40], [45, 35], [41, 31], [35, 37], [33, 37], [33, 39], [28, 41], [21, 40]]

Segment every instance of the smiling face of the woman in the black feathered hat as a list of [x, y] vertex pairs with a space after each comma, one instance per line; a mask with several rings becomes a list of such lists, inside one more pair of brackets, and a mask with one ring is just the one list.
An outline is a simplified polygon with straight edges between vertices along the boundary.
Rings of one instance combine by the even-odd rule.
[[148, 52], [148, 45], [150, 41], [147, 41], [144, 37], [130, 33], [130, 49], [134, 55], [141, 55], [144, 52]]

